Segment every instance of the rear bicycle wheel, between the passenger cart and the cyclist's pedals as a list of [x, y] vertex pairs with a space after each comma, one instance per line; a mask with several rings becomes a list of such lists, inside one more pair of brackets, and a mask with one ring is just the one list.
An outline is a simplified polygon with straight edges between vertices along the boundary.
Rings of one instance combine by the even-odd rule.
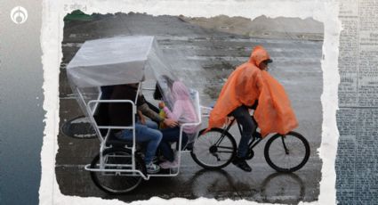
[[[234, 158], [237, 143], [228, 131], [212, 128], [204, 134], [201, 130], [193, 144], [191, 157], [196, 163], [208, 169], [224, 168]], [[223, 135], [222, 135], [223, 134]]]

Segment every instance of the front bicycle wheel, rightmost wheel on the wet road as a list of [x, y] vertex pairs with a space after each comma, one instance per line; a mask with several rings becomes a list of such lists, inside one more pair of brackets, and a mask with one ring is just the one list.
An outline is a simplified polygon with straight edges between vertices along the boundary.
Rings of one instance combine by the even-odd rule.
[[302, 168], [310, 157], [310, 145], [301, 134], [289, 132], [273, 135], [265, 144], [265, 160], [278, 172], [294, 172]]

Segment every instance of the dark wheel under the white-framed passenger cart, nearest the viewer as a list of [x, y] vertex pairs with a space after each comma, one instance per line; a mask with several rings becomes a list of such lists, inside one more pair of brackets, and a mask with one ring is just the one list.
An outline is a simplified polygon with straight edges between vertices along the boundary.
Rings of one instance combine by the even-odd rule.
[[[102, 153], [105, 169], [129, 169], [132, 166], [132, 152], [125, 148], [109, 148]], [[146, 166], [139, 154], [134, 155], [135, 170], [146, 174]], [[128, 166], [128, 167], [127, 167]], [[100, 153], [92, 160], [91, 168], [100, 168]], [[141, 184], [141, 174], [137, 172], [117, 171], [91, 171], [94, 184], [102, 191], [111, 194], [124, 194], [132, 192]]]

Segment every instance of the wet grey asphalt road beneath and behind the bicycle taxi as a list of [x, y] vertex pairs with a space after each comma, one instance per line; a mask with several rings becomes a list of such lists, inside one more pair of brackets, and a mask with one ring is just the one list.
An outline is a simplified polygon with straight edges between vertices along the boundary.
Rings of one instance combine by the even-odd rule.
[[[296, 131], [310, 142], [310, 160], [294, 174], [279, 174], [263, 157], [264, 142], [259, 144], [255, 157], [249, 160], [251, 173], [229, 165], [220, 171], [200, 168], [183, 153], [181, 173], [175, 177], [155, 177], [143, 182], [133, 194], [112, 196], [101, 192], [90, 178], [84, 165], [99, 152], [99, 140], [70, 137], [84, 132], [84, 123], [76, 123], [76, 130], [58, 135], [56, 177], [60, 192], [76, 196], [96, 196], [121, 201], [149, 200], [153, 196], [164, 199], [182, 197], [215, 198], [217, 200], [245, 199], [248, 201], [297, 203], [317, 201], [321, 179], [321, 160], [317, 149], [321, 141], [323, 88], [321, 71], [322, 41], [292, 39], [293, 35], [275, 39], [243, 37], [213, 29], [202, 29], [180, 18], [152, 17], [144, 14], [96, 16], [93, 21], [70, 21], [64, 28], [63, 59], [60, 67], [60, 126], [83, 115], [68, 86], [65, 67], [80, 45], [87, 39], [118, 35], [153, 35], [161, 46], [177, 76], [200, 91], [201, 104], [212, 104], [222, 84], [235, 66], [248, 59], [254, 45], [263, 45], [274, 63], [269, 72], [285, 87], [300, 122]], [[150, 95], [148, 92], [145, 95]], [[206, 122], [204, 123], [206, 124]], [[74, 133], [74, 134], [73, 134]], [[83, 136], [83, 135], [82, 135]], [[91, 136], [91, 135], [84, 135]], [[238, 139], [237, 139], [238, 142]]]

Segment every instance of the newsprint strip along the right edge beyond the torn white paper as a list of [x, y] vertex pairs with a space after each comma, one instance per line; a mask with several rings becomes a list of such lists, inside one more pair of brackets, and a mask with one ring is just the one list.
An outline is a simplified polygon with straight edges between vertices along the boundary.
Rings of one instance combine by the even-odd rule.
[[341, 1], [337, 201], [378, 201], [378, 1]]

